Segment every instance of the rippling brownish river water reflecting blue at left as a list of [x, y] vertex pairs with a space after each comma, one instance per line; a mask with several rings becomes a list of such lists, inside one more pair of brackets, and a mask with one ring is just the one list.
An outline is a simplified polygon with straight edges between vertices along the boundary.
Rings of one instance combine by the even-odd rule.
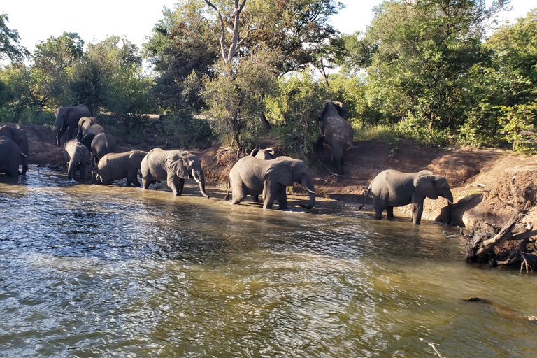
[[0, 356], [437, 357], [419, 338], [447, 357], [537, 356], [536, 324], [461, 303], [537, 315], [536, 276], [465, 264], [442, 234], [456, 229], [187, 184], [0, 178]]

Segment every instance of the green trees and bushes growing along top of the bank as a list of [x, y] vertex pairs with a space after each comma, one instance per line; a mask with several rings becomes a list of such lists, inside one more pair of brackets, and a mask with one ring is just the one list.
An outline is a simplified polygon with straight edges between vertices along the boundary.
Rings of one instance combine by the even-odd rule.
[[55, 108], [84, 103], [122, 137], [150, 128], [187, 148], [217, 139], [249, 150], [270, 135], [306, 154], [320, 104], [333, 99], [348, 106], [357, 140], [529, 154], [537, 8], [491, 30], [507, 5], [384, 1], [364, 33], [341, 34], [329, 22], [345, 11], [334, 0], [182, 0], [142, 49], [64, 32], [32, 51], [3, 14], [0, 59], [11, 63], [0, 69], [0, 121], [52, 125]]

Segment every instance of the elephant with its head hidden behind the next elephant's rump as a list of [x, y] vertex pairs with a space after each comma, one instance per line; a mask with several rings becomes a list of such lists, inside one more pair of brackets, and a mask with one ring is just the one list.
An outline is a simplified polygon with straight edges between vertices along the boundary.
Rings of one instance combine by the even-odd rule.
[[127, 187], [131, 184], [140, 187], [138, 169], [148, 152], [131, 150], [124, 153], [108, 153], [104, 155], [94, 170], [96, 184], [110, 184], [113, 180], [127, 178]]

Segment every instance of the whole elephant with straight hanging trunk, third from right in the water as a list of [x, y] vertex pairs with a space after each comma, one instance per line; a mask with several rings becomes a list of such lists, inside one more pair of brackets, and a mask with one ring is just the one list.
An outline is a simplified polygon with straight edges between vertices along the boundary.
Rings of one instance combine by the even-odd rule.
[[201, 195], [205, 192], [205, 178], [199, 159], [186, 150], [162, 150], [155, 148], [148, 152], [141, 163], [142, 185], [149, 189], [150, 184], [166, 180], [174, 195], [181, 195], [185, 179], [192, 178], [199, 184]]

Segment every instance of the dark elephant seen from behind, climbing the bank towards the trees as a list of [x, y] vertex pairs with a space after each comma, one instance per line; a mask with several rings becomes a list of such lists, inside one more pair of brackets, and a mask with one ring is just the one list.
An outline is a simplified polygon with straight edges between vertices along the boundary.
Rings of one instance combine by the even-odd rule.
[[343, 174], [343, 152], [352, 147], [354, 131], [345, 120], [347, 107], [341, 102], [324, 101], [319, 113], [320, 144], [330, 145], [332, 161], [336, 162], [338, 174]]

